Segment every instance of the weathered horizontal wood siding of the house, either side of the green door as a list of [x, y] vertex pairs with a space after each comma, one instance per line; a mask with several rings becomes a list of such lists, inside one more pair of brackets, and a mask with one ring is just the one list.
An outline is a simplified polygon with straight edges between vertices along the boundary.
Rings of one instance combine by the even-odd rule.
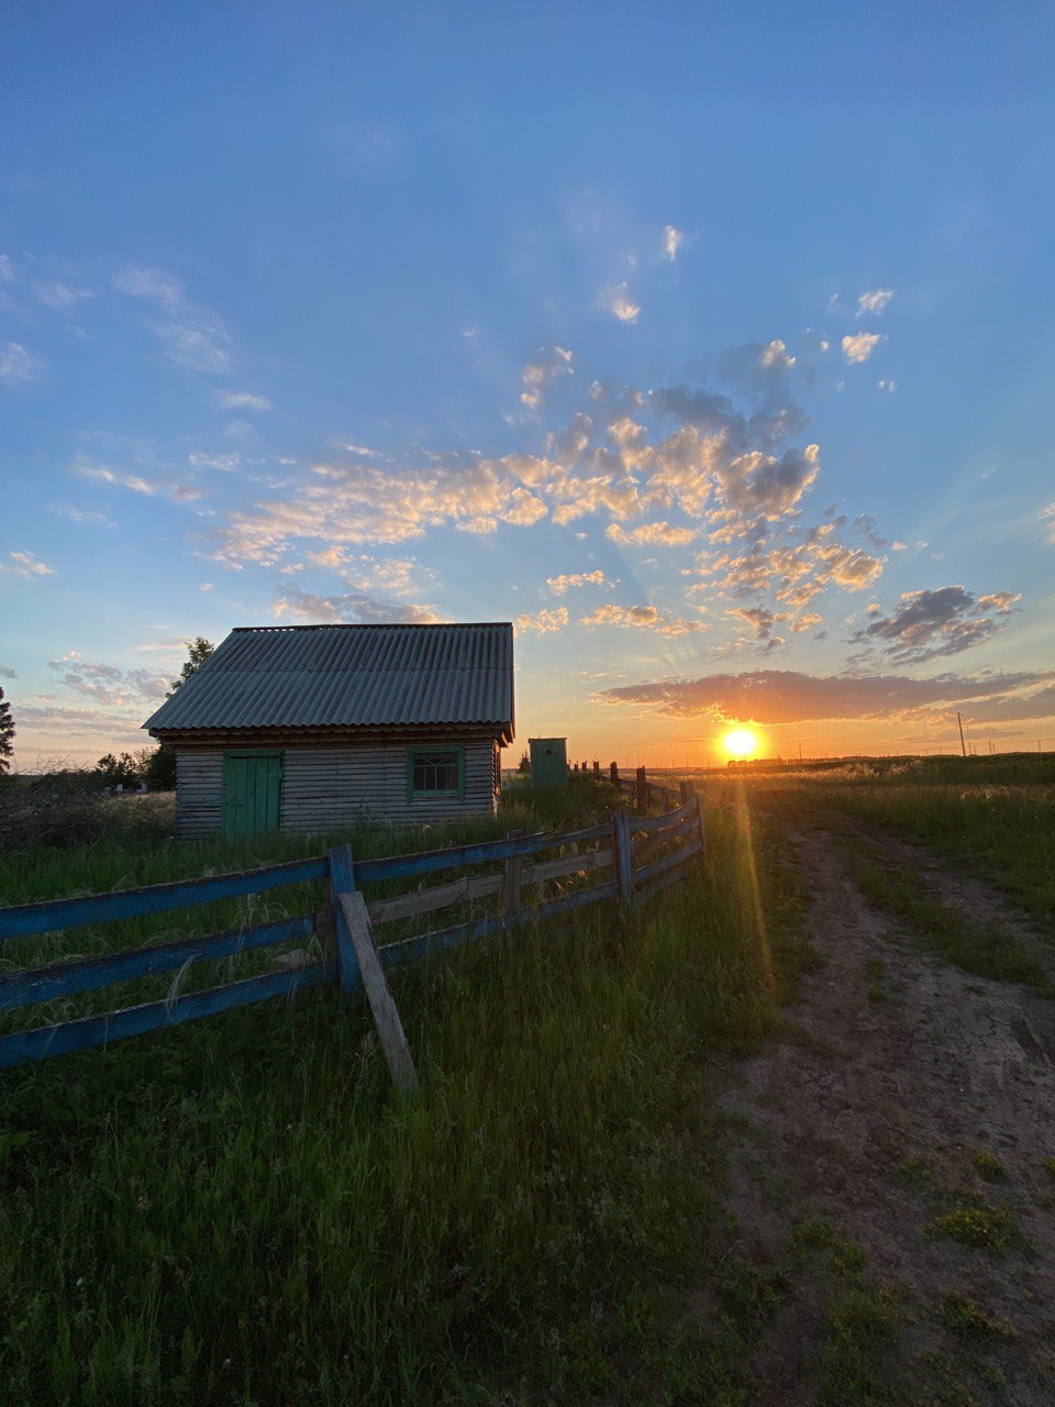
[[[408, 747], [464, 747], [464, 799], [437, 796], [407, 801]], [[421, 737], [412, 744], [360, 743], [345, 747], [286, 747], [281, 829], [336, 830], [354, 820], [395, 825], [456, 820], [494, 813], [498, 802], [492, 737]], [[183, 839], [219, 830], [224, 750], [177, 750], [176, 834]]]

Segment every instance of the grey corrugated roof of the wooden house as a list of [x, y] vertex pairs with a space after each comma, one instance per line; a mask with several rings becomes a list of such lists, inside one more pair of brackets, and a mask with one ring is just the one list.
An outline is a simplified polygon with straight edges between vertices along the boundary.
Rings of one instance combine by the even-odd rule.
[[241, 628], [143, 727], [388, 727], [513, 720], [513, 628]]

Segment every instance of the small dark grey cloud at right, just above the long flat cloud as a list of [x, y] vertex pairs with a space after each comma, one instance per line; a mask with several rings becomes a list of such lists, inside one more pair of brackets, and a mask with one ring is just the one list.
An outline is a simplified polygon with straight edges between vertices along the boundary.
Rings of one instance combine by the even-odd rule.
[[892, 658], [921, 663], [958, 654], [989, 640], [1007, 623], [1020, 598], [1010, 591], [975, 597], [964, 587], [937, 591], [906, 591], [892, 616], [878, 615], [855, 642], [882, 642]]

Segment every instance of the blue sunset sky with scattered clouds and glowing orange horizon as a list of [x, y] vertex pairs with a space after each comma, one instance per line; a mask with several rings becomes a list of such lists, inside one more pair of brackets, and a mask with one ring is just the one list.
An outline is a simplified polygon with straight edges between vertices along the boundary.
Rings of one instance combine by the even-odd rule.
[[519, 753], [1055, 749], [1049, 4], [6, 3], [0, 687], [513, 620]]

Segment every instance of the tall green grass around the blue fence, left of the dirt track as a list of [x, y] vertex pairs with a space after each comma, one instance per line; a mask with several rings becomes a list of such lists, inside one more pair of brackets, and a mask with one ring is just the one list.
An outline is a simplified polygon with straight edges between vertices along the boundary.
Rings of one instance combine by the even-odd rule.
[[[518, 803], [497, 823], [352, 844], [539, 820]], [[24, 902], [319, 848], [174, 846], [143, 816], [142, 834], [20, 857], [0, 882]], [[592, 910], [558, 941], [522, 931], [404, 972], [418, 1099], [390, 1089], [362, 1003], [325, 991], [4, 1072], [7, 1396], [746, 1407], [746, 1344], [779, 1283], [727, 1276], [706, 1325], [671, 1286], [719, 1273], [720, 1134], [699, 1058], [776, 1029], [816, 962], [791, 931], [800, 905], [775, 840], [715, 808], [705, 862], [632, 922]], [[128, 929], [80, 943], [159, 936]]]

